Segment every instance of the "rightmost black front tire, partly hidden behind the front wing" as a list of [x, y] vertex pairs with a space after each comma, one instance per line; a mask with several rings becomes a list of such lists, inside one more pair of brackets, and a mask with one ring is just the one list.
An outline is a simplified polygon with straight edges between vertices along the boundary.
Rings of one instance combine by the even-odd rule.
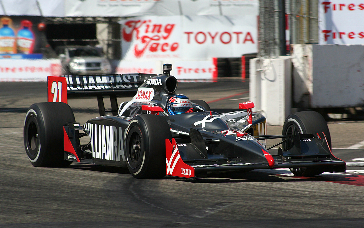
[[[327, 138], [327, 142], [331, 149], [331, 136], [327, 123], [323, 116], [318, 112], [304, 111], [296, 112], [287, 117], [284, 122], [282, 134], [292, 135], [293, 128], [296, 128], [300, 134], [314, 134], [318, 133], [320, 136], [321, 132], [324, 132]], [[288, 149], [292, 145], [292, 142], [283, 144], [283, 150]], [[320, 167], [300, 167], [300, 168], [290, 168], [290, 171], [301, 177], [312, 177], [320, 175], [324, 170]]]

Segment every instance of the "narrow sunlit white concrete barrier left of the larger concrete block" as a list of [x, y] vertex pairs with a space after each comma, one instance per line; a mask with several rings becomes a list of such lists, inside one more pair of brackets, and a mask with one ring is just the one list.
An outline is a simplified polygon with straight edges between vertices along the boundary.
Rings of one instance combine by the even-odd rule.
[[249, 98], [268, 125], [282, 126], [291, 113], [290, 57], [250, 59]]

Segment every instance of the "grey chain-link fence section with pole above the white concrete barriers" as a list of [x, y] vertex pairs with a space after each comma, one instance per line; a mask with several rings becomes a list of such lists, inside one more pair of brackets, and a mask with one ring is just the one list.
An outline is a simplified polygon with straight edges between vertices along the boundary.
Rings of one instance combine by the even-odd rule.
[[260, 0], [258, 30], [258, 57], [286, 55], [286, 40], [318, 43], [318, 0]]

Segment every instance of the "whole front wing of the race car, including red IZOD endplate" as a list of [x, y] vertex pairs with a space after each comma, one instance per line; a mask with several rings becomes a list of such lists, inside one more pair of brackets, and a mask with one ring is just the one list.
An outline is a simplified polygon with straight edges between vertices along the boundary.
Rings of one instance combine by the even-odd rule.
[[[199, 161], [199, 163], [194, 163], [193, 165], [187, 165], [181, 159], [174, 138], [172, 139], [172, 142], [166, 139], [166, 174], [184, 178], [207, 178], [207, 172], [300, 167], [320, 167], [320, 169], [331, 173], [334, 171], [345, 172], [345, 162], [332, 154], [324, 134], [322, 137], [305, 134], [262, 136], [260, 139], [294, 137], [296, 137], [296, 139], [292, 140], [290, 148], [285, 151], [278, 148], [278, 153], [276, 155], [271, 155], [268, 151], [265, 152], [262, 150], [262, 155], [267, 159], [266, 163], [230, 162], [229, 160], [209, 161], [206, 159], [205, 162]], [[282, 142], [285, 142], [285, 140]], [[272, 159], [274, 160], [272, 161]]]

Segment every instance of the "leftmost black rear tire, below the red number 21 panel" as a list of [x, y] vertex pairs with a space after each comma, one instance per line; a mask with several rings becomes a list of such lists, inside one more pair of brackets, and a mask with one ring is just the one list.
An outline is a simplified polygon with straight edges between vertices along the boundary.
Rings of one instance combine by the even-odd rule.
[[24, 121], [24, 146], [29, 161], [36, 167], [65, 167], [71, 161], [63, 156], [63, 125], [75, 122], [66, 103], [32, 104]]

